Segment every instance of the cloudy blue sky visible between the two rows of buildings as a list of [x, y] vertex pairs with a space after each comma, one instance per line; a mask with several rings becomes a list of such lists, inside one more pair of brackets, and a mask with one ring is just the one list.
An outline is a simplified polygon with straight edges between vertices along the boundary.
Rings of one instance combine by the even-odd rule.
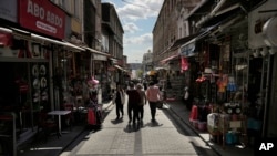
[[102, 0], [110, 2], [124, 30], [123, 54], [127, 63], [141, 63], [143, 54], [152, 51], [152, 31], [164, 0]]

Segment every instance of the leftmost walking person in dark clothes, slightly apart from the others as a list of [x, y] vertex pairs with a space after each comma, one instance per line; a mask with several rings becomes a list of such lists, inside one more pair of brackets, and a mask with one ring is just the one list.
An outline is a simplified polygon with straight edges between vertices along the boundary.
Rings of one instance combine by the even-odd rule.
[[125, 93], [120, 84], [117, 84], [117, 86], [116, 86], [113, 100], [114, 100], [113, 104], [115, 103], [116, 119], [120, 119], [120, 116], [121, 116], [121, 118], [123, 118], [123, 116], [124, 116], [123, 106], [125, 103]]

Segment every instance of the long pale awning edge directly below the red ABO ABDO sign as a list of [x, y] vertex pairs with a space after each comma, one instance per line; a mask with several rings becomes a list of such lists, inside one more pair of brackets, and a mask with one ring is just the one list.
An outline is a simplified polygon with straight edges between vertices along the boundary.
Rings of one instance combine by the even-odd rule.
[[80, 46], [76, 46], [76, 45], [74, 45], [72, 43], [69, 43], [66, 41], [59, 41], [59, 40], [50, 39], [50, 38], [42, 37], [42, 35], [35, 34], [35, 33], [31, 33], [29, 31], [17, 29], [17, 28], [2, 28], [2, 27], [0, 27], [0, 31], [14, 34], [16, 37], [19, 37], [19, 38], [22, 38], [22, 39], [25, 39], [25, 40], [32, 40], [32, 39], [41, 40], [43, 42], [47, 41], [47, 42], [50, 42], [50, 43], [60, 44], [60, 45], [63, 45], [63, 46], [66, 46], [66, 48], [71, 48], [71, 49], [73, 49], [75, 51], [84, 51], [84, 49], [82, 49]]

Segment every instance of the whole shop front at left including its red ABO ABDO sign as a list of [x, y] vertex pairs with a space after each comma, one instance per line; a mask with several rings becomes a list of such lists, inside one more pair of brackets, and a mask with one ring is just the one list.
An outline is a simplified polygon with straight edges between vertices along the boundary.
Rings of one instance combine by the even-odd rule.
[[[3, 1], [8, 2], [8, 1]], [[49, 112], [60, 108], [57, 86], [62, 85], [59, 81], [63, 72], [59, 69], [64, 66], [66, 59], [72, 52], [83, 49], [62, 41], [64, 38], [65, 14], [49, 1], [35, 3], [34, 1], [10, 1], [14, 4], [3, 4], [6, 13], [0, 14], [0, 110], [1, 110], [1, 135], [14, 132], [12, 138], [4, 146], [9, 150], [16, 150], [16, 145], [23, 143], [24, 134], [37, 132], [40, 112]], [[1, 1], [2, 3], [2, 1]], [[29, 8], [28, 8], [29, 4]], [[38, 15], [30, 6], [40, 7], [42, 14]], [[44, 12], [44, 13], [43, 13]], [[12, 14], [12, 15], [11, 15]], [[57, 19], [44, 15], [52, 14]], [[4, 21], [4, 22], [3, 22]], [[3, 24], [6, 23], [6, 24]], [[54, 59], [55, 56], [61, 60]], [[58, 62], [61, 61], [61, 62]], [[57, 65], [59, 64], [59, 65]], [[60, 83], [61, 82], [61, 83]], [[63, 86], [63, 85], [62, 85]], [[10, 126], [9, 117], [14, 116]], [[1, 147], [3, 147], [1, 139]], [[13, 149], [10, 147], [13, 146]]]

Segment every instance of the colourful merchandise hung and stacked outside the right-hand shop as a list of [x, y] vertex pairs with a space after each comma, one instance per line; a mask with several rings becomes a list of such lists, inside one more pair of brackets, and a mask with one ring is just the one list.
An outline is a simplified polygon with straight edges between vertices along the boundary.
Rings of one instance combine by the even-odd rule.
[[219, 55], [209, 53], [211, 63], [205, 66], [199, 79], [204, 79], [201, 91], [204, 91], [211, 108], [207, 115], [207, 132], [211, 138], [223, 147], [245, 143], [247, 135], [245, 111], [248, 107], [250, 53], [245, 46], [236, 46], [238, 35], [242, 34], [226, 37], [214, 45], [213, 50], [218, 50]]

